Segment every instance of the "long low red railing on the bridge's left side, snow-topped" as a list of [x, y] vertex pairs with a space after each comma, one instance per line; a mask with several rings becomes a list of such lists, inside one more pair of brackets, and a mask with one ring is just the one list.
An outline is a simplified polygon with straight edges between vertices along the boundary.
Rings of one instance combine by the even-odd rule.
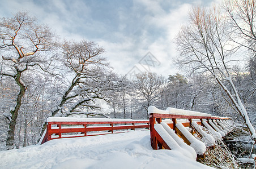
[[137, 128], [149, 130], [149, 127], [148, 120], [49, 117], [41, 144], [53, 139], [113, 134]]

